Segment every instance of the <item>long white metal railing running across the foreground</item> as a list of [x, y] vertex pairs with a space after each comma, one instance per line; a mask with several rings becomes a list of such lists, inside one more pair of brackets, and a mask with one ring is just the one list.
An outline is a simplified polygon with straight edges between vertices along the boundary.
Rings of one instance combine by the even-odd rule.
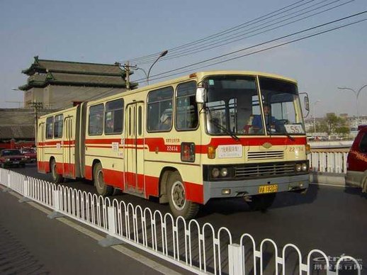
[[293, 244], [280, 250], [273, 240], [265, 239], [258, 247], [249, 234], [240, 236], [238, 245], [224, 227], [215, 230], [210, 223], [175, 219], [169, 213], [56, 186], [6, 169], [0, 169], [0, 184], [21, 194], [23, 201], [52, 209], [54, 217], [65, 215], [106, 233], [106, 240], [128, 243], [197, 274], [311, 274], [320, 270], [339, 274], [345, 266], [361, 274], [361, 263], [352, 257], [340, 257], [333, 263], [327, 254], [313, 249], [303, 258]]

